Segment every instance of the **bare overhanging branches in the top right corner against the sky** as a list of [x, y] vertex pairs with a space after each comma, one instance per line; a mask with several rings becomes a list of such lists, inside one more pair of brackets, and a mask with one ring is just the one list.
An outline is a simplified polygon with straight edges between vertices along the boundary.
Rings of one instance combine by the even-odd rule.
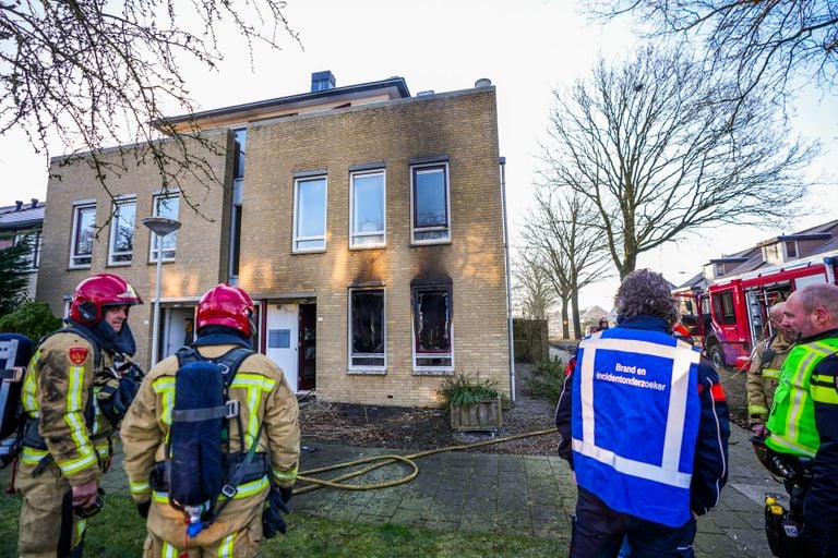
[[[587, 5], [586, 9], [590, 9]], [[654, 36], [684, 34], [704, 40], [709, 66], [735, 76], [740, 108], [753, 94], [785, 96], [795, 76], [827, 88], [838, 77], [838, 2], [753, 0], [599, 0], [610, 19], [633, 12]]]

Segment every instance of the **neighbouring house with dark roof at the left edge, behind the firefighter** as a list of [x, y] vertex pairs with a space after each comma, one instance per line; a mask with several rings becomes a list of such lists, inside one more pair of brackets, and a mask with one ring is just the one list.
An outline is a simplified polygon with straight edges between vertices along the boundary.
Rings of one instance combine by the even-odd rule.
[[32, 198], [28, 203], [17, 201], [14, 205], [0, 207], [0, 248], [25, 242], [29, 254], [21, 269], [28, 276], [26, 296], [34, 299], [40, 266], [41, 228], [46, 204]]

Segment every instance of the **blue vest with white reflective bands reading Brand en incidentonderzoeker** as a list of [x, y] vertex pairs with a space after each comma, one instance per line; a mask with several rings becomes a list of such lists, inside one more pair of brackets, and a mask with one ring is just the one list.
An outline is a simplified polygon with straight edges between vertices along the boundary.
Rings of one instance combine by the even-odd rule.
[[662, 331], [616, 327], [579, 344], [573, 378], [576, 482], [614, 511], [690, 519], [699, 353]]

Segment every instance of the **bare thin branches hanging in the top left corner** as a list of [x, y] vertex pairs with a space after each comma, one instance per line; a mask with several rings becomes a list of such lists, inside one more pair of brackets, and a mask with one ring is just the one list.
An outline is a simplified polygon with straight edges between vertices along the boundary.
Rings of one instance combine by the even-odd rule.
[[[242, 40], [251, 64], [254, 45], [279, 49], [278, 34], [298, 40], [284, 9], [282, 0], [0, 0], [0, 135], [22, 129], [47, 157], [60, 142], [67, 160], [83, 156], [106, 190], [108, 173], [137, 163], [153, 165], [164, 190], [185, 177], [219, 184], [195, 153], [217, 153], [217, 142], [197, 129], [171, 134], [164, 111], [194, 112], [183, 64], [215, 69], [222, 35]], [[125, 143], [135, 145], [100, 156]]]

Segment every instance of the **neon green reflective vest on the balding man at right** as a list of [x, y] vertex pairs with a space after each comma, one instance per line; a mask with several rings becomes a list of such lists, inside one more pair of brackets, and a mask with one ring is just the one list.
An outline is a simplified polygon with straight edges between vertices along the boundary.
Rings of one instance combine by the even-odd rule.
[[813, 458], [821, 445], [815, 427], [811, 377], [821, 361], [838, 351], [838, 337], [815, 336], [795, 344], [780, 371], [765, 445], [781, 453]]

